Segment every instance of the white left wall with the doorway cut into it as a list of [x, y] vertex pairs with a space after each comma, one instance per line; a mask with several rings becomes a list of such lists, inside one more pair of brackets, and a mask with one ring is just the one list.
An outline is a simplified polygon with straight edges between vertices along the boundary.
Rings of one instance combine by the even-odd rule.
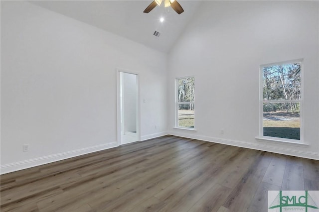
[[26, 1], [1, 1], [1, 173], [116, 146], [116, 68], [140, 74], [142, 139], [163, 134], [166, 57]]

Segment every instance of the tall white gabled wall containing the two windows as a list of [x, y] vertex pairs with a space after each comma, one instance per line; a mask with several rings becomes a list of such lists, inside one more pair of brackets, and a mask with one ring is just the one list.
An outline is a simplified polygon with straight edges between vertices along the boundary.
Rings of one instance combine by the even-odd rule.
[[[319, 159], [318, 8], [315, 1], [204, 1], [168, 55], [170, 133]], [[300, 58], [309, 145], [256, 140], [260, 65]], [[192, 75], [195, 132], [173, 128], [174, 78]]]

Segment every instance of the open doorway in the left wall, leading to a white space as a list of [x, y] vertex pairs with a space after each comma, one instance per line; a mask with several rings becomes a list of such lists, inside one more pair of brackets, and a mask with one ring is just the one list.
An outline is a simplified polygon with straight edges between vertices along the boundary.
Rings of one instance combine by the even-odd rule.
[[118, 144], [140, 140], [139, 76], [117, 70]]

